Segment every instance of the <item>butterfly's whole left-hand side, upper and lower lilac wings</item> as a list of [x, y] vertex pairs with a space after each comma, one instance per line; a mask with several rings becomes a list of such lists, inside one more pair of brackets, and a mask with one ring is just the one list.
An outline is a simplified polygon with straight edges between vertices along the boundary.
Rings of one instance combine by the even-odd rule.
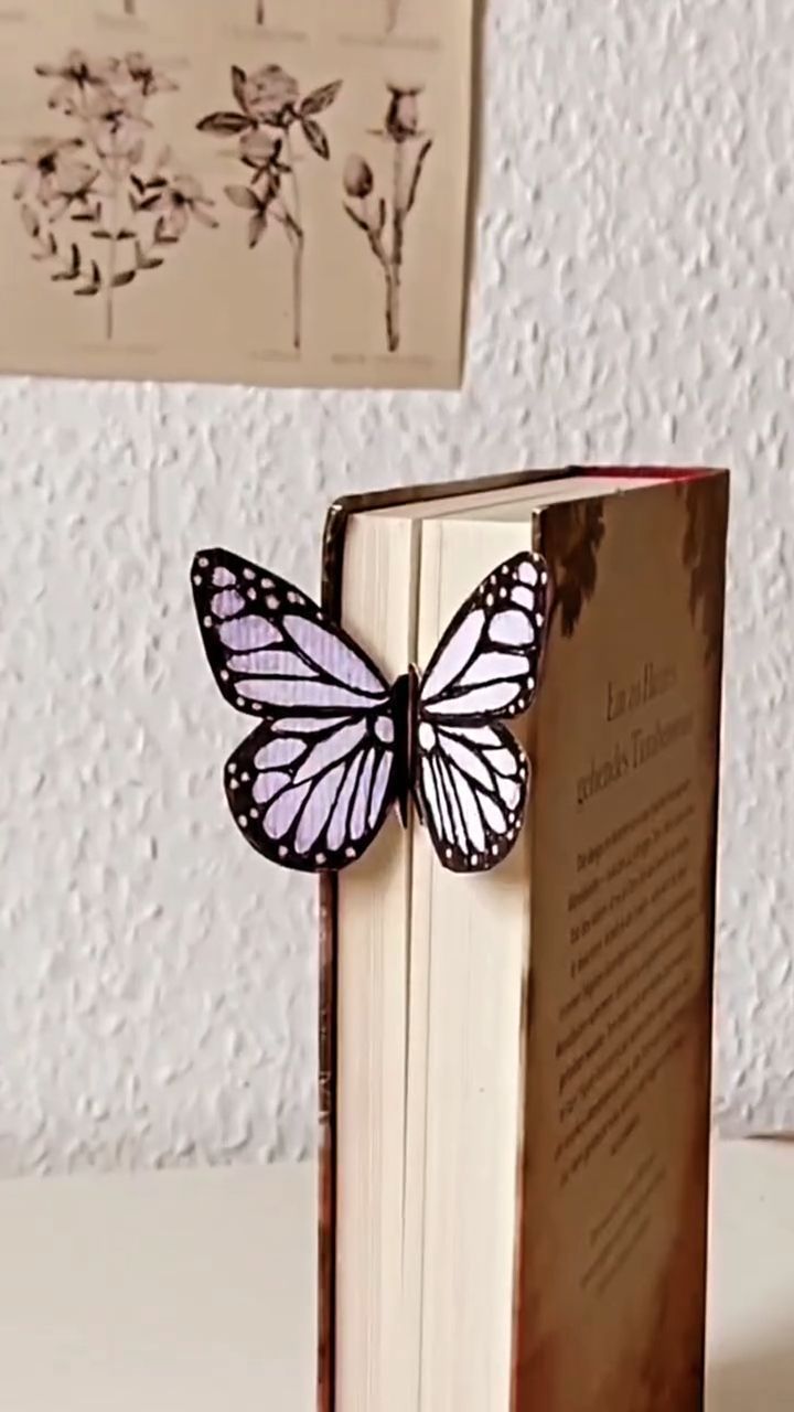
[[223, 549], [196, 555], [194, 597], [215, 679], [261, 716], [226, 765], [249, 843], [301, 871], [355, 861], [394, 803], [391, 692], [291, 583]]

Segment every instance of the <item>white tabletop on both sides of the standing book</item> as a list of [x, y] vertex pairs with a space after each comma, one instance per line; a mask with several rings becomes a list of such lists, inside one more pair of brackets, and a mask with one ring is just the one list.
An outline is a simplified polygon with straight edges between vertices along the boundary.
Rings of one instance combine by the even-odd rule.
[[[0, 1183], [3, 1412], [312, 1412], [309, 1165]], [[794, 1145], [715, 1161], [708, 1412], [794, 1409]]]

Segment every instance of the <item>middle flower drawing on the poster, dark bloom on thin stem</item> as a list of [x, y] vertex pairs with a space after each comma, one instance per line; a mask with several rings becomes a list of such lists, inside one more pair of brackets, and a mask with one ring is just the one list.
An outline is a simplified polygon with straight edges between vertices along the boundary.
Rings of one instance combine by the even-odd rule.
[[237, 140], [246, 181], [226, 186], [225, 192], [233, 206], [249, 213], [249, 249], [254, 250], [273, 227], [284, 233], [290, 246], [292, 347], [297, 350], [302, 335], [305, 229], [297, 167], [302, 154], [295, 133], [300, 131], [304, 150], [328, 161], [331, 144], [318, 114], [331, 107], [340, 88], [342, 82], [336, 80], [301, 97], [297, 79], [278, 64], [266, 64], [251, 73], [235, 65], [232, 95], [237, 107], [208, 113], [198, 124], [202, 133]]

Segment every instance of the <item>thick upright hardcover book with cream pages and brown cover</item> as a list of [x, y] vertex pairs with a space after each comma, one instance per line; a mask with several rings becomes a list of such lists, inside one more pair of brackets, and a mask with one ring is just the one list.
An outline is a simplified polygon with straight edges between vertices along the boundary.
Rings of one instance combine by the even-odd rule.
[[352, 497], [324, 606], [393, 678], [540, 552], [526, 819], [321, 878], [321, 1412], [702, 1406], [728, 473]]

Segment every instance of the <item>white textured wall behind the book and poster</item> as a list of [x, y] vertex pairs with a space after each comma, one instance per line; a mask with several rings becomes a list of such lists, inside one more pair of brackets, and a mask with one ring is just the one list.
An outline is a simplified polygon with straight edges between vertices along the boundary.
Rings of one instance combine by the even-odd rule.
[[[0, 384], [0, 1169], [312, 1145], [314, 888], [226, 818], [192, 551], [343, 490], [735, 467], [718, 1104], [794, 1127], [794, 17], [493, 0], [461, 395]], [[1, 313], [0, 313], [1, 316]]]

